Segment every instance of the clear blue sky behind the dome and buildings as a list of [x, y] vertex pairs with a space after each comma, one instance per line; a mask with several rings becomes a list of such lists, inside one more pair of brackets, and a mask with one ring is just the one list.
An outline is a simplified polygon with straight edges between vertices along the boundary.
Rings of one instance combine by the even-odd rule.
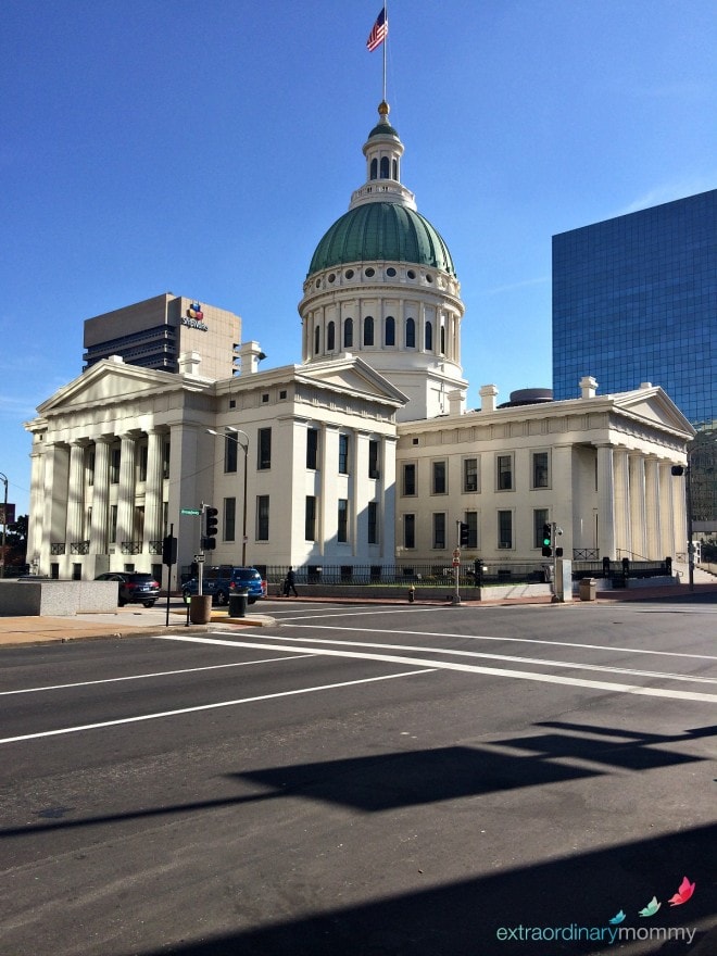
[[[0, 471], [83, 320], [165, 291], [301, 361], [314, 248], [364, 180], [380, 0], [2, 0]], [[717, 187], [715, 0], [390, 0], [404, 184], [462, 282], [469, 406], [551, 386], [551, 237]]]

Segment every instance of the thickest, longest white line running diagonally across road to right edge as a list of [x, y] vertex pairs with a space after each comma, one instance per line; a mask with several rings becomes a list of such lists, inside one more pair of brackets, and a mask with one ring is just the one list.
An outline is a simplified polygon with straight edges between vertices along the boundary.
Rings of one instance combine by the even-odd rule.
[[[388, 664], [407, 664], [407, 665], [422, 665], [429, 664], [436, 670], [460, 670], [466, 674], [482, 674], [486, 676], [492, 677], [510, 677], [516, 680], [534, 680], [540, 683], [561, 683], [566, 684], [568, 687], [583, 687], [591, 688], [593, 690], [601, 691], [611, 691], [612, 693], [624, 693], [624, 694], [638, 694], [639, 696], [646, 697], [668, 697], [669, 700], [675, 701], [703, 701], [705, 703], [715, 703], [717, 704], [717, 694], [707, 694], [699, 691], [677, 691], [677, 690], [663, 690], [662, 688], [645, 688], [640, 687], [638, 684], [629, 684], [629, 683], [612, 683], [609, 681], [602, 680], [586, 680], [584, 678], [579, 677], [562, 677], [556, 674], [536, 674], [528, 670], [508, 670], [501, 667], [480, 667], [477, 664], [458, 664], [453, 661], [425, 661], [420, 657], [404, 657], [398, 654], [368, 654], [366, 652], [360, 651], [334, 651], [329, 647], [301, 647], [295, 649], [290, 645], [282, 646], [281, 644], [259, 644], [250, 641], [225, 641], [217, 638], [201, 638], [201, 637], [180, 637], [173, 634], [160, 634], [156, 636], [158, 641], [189, 641], [189, 642], [198, 642], [202, 644], [219, 644], [226, 646], [227, 644], [234, 644], [237, 647], [252, 647], [254, 650], [268, 650], [269, 647], [275, 647], [281, 651], [291, 651], [291, 650], [301, 650], [301, 651], [313, 651], [317, 655], [326, 655], [327, 657], [349, 657], [349, 658], [357, 658], [361, 661], [383, 661]], [[280, 639], [277, 639], [280, 640]], [[424, 651], [425, 649], [422, 649]], [[531, 659], [531, 663], [534, 663]]]

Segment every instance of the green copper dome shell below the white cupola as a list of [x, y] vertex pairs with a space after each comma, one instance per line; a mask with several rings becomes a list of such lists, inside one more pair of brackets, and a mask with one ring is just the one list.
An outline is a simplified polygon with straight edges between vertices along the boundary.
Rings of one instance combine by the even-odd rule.
[[316, 247], [307, 275], [350, 262], [389, 260], [442, 269], [455, 277], [449, 248], [419, 213], [398, 202], [349, 210]]

